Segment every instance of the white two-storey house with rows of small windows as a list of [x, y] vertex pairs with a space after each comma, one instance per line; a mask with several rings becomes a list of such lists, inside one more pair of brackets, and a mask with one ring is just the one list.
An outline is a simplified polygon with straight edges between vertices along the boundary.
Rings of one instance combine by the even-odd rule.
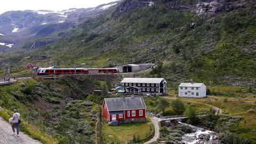
[[181, 83], [179, 85], [179, 97], [204, 98], [206, 86], [203, 83]]

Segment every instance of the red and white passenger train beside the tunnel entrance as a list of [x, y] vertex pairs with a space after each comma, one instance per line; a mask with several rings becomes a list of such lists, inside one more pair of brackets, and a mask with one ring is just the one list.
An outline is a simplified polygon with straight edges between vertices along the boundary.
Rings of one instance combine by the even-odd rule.
[[37, 75], [62, 75], [62, 74], [99, 74], [99, 73], [119, 73], [118, 68], [38, 68]]

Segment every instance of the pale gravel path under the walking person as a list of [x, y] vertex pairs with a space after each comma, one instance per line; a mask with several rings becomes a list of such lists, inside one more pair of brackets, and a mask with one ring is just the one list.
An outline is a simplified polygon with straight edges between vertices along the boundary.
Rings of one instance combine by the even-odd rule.
[[[16, 130], [15, 130], [16, 132]], [[12, 135], [12, 127], [9, 123], [5, 122], [2, 117], [0, 117], [0, 143], [4, 144], [37, 144], [41, 143], [37, 140], [33, 140], [28, 135], [20, 132], [19, 137]]]

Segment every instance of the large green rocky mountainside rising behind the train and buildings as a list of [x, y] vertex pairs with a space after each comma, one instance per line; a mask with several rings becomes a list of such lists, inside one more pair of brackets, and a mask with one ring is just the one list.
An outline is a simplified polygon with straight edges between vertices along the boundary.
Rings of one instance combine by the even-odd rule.
[[[66, 22], [52, 24], [72, 28], [49, 32], [50, 39], [58, 38], [46, 46], [23, 43], [19, 52], [25, 51], [26, 59], [19, 60], [62, 67], [154, 62], [159, 67], [149, 76], [163, 76], [170, 85], [190, 78], [209, 85], [256, 84], [255, 1], [124, 0], [110, 8], [91, 17], [73, 17], [78, 23], [66, 23], [73, 13]], [[33, 34], [41, 38], [48, 30]], [[47, 38], [42, 41], [51, 43]], [[34, 59], [37, 55], [51, 58]]]

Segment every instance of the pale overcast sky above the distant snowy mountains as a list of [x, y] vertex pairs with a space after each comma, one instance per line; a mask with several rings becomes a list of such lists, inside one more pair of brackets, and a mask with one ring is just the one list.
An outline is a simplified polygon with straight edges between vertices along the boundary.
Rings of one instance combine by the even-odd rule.
[[95, 7], [117, 0], [1, 0], [0, 14], [18, 10], [61, 11], [70, 8]]

